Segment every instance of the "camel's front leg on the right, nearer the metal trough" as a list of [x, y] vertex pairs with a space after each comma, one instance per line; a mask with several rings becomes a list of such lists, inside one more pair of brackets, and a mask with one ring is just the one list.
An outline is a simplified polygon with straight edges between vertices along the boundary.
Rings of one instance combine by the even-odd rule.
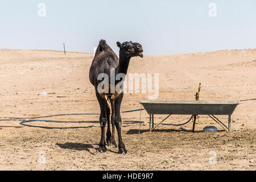
[[120, 106], [123, 98], [123, 93], [119, 95], [119, 97], [115, 100], [115, 127], [117, 128], [117, 135], [118, 135], [118, 148], [119, 154], [126, 154], [128, 151], [125, 149], [125, 144], [123, 143], [122, 140], [122, 135], [121, 135], [121, 127], [122, 127], [122, 119], [120, 115]]

